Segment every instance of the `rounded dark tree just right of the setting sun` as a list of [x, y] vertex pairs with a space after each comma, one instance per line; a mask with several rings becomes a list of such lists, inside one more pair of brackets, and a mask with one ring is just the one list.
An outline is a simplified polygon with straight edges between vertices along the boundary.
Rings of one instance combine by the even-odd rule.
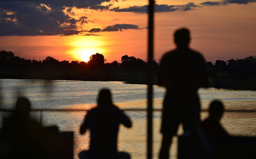
[[104, 58], [104, 55], [96, 53], [90, 56], [90, 60], [88, 61], [88, 65], [90, 68], [103, 68], [104, 62], [107, 61]]

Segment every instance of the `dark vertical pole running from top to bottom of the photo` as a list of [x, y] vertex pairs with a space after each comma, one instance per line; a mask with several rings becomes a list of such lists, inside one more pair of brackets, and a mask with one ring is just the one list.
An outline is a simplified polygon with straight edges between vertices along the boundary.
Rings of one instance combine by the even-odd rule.
[[154, 0], [149, 0], [148, 7], [148, 139], [147, 158], [152, 159], [152, 112], [153, 112], [153, 27], [154, 27]]

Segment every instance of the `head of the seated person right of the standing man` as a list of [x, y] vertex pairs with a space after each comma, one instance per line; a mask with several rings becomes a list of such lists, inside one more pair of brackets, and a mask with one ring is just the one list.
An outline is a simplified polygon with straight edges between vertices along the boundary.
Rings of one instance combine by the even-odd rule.
[[224, 106], [221, 101], [214, 100], [209, 107], [209, 118], [220, 120], [224, 112]]

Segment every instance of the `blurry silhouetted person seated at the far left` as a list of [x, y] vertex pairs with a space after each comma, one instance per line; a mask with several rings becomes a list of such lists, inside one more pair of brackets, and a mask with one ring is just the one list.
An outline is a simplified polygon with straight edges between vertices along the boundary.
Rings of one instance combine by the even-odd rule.
[[27, 98], [17, 100], [15, 113], [4, 119], [0, 129], [0, 158], [55, 158], [57, 145], [52, 133], [30, 118]]

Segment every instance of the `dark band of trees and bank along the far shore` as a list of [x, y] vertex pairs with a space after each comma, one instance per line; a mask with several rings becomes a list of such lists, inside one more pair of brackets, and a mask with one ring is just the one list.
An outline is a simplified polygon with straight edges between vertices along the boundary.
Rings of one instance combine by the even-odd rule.
[[[0, 78], [121, 81], [127, 84], [147, 84], [148, 62], [128, 55], [121, 57], [121, 63], [117, 61], [105, 63], [105, 61], [104, 56], [99, 53], [90, 56], [88, 62], [66, 60], [60, 62], [50, 56], [43, 61], [36, 61], [20, 58], [11, 51], [2, 50], [0, 51]], [[213, 79], [212, 87], [256, 90], [256, 56], [230, 59], [227, 62], [223, 60], [216, 60], [215, 64], [206, 62], [206, 67]], [[156, 75], [159, 65], [156, 61], [153, 63], [152, 71]], [[185, 65], [189, 66], [189, 64]]]

